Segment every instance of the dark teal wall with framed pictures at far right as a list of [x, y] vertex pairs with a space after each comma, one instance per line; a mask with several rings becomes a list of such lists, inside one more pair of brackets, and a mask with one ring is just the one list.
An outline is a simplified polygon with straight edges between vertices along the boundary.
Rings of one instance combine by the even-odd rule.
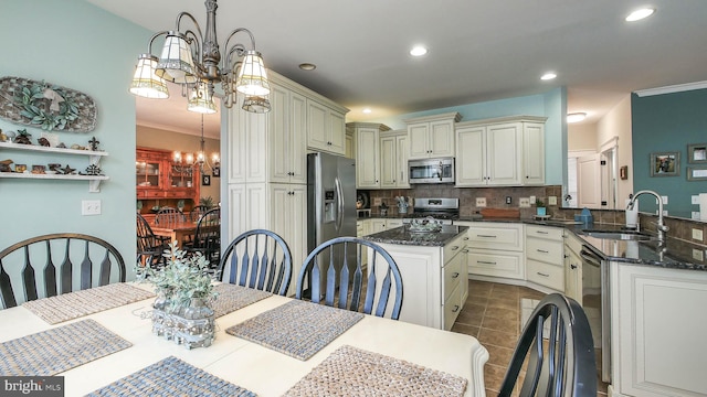
[[[707, 89], [639, 97], [632, 95], [633, 190], [652, 190], [668, 196], [671, 216], [690, 217], [698, 205], [690, 196], [707, 193], [707, 182], [687, 181], [687, 146], [707, 142]], [[651, 153], [679, 152], [677, 176], [651, 176]], [[707, 168], [707, 164], [701, 164]], [[642, 212], [655, 212], [654, 200], [640, 198]]]

